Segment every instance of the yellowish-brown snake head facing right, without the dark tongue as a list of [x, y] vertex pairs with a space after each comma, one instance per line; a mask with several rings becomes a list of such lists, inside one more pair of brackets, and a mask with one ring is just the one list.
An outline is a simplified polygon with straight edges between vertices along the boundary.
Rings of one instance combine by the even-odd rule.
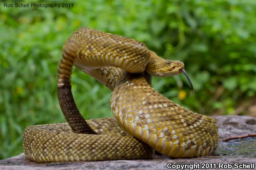
[[183, 62], [160, 58], [151, 51], [150, 60], [147, 63], [145, 71], [152, 76], [169, 77], [180, 74], [182, 69], [184, 69]]

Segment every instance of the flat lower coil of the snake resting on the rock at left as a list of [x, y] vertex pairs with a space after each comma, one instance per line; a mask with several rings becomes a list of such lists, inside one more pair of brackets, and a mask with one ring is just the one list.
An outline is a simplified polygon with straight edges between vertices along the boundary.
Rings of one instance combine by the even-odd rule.
[[152, 148], [124, 132], [114, 118], [87, 123], [97, 135], [75, 134], [68, 123], [27, 127], [23, 134], [26, 158], [39, 163], [152, 158]]

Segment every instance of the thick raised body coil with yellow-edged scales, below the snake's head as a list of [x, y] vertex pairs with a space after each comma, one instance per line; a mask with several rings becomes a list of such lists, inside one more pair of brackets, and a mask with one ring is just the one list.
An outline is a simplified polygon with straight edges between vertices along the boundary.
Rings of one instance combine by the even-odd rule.
[[218, 147], [213, 118], [173, 103], [143, 75], [133, 75], [113, 90], [111, 108], [125, 131], [170, 158], [210, 155]]

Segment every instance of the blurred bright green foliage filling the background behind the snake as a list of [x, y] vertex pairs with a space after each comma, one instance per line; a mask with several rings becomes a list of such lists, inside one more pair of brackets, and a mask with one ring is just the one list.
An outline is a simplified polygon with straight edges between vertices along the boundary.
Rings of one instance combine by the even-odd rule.
[[[57, 1], [23, 0], [31, 2]], [[194, 95], [188, 97], [184, 75], [154, 78], [153, 87], [195, 112], [232, 114], [238, 104], [255, 98], [255, 0], [68, 3], [74, 7], [0, 4], [0, 159], [22, 152], [27, 126], [64, 122], [56, 97], [57, 65], [65, 40], [82, 26], [143, 41], [160, 56], [183, 61]], [[72, 91], [85, 119], [112, 116], [110, 91], [78, 69]]]

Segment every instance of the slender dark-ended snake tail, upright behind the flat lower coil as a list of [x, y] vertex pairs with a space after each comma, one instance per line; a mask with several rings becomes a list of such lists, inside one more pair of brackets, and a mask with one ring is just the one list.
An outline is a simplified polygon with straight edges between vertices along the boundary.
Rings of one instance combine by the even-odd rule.
[[72, 95], [71, 74], [74, 58], [76, 56], [73, 51], [74, 46], [70, 45], [62, 50], [62, 58], [58, 69], [58, 99], [60, 109], [64, 114], [65, 119], [70, 127], [77, 134], [97, 134], [83, 119], [79, 110], [75, 105], [75, 100]]

